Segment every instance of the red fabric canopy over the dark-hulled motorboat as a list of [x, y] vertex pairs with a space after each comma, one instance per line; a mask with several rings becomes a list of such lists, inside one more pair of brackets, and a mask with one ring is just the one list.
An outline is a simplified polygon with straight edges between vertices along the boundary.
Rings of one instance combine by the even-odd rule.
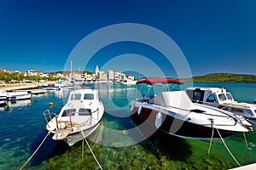
[[184, 82], [182, 82], [182, 81], [170, 79], [170, 78], [148, 78], [145, 80], [139, 80], [136, 83], [137, 84], [146, 83], [146, 84], [150, 84], [150, 85], [153, 85], [155, 83], [174, 83], [174, 84], [181, 84], [181, 85], [184, 84]]

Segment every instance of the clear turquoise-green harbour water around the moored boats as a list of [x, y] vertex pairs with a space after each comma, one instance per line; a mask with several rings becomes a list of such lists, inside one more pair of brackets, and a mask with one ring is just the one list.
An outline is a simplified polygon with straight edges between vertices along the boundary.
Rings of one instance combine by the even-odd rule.
[[[190, 86], [188, 83], [187, 86]], [[196, 87], [224, 87], [239, 101], [253, 103], [255, 83], [197, 82]], [[201, 140], [179, 139], [164, 133], [154, 133], [143, 139], [129, 114], [131, 99], [140, 96], [136, 86], [98, 84], [105, 105], [102, 125], [89, 140], [103, 169], [228, 169], [238, 167], [221, 141], [212, 144]], [[43, 112], [58, 113], [70, 91], [49, 91], [31, 100], [0, 107], [0, 169], [19, 169], [46, 136]], [[49, 107], [49, 102], [54, 106]], [[256, 162], [255, 132], [235, 134], [225, 143], [241, 165]], [[143, 139], [137, 141], [137, 139]], [[97, 139], [97, 140], [96, 140]], [[247, 145], [246, 145], [247, 142]], [[25, 169], [99, 169], [83, 142], [68, 148], [67, 144], [47, 137]]]

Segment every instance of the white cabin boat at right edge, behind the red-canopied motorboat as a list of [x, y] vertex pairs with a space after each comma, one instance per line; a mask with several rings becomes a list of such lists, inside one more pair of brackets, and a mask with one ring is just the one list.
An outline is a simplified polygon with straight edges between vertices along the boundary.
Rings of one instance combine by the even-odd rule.
[[230, 92], [224, 88], [187, 88], [186, 93], [195, 103], [211, 105], [224, 111], [256, 119], [256, 105], [235, 101]]

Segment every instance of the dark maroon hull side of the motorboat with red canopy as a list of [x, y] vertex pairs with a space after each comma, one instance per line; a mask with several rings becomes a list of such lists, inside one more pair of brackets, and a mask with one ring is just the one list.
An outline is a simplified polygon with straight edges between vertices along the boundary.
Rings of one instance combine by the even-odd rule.
[[[138, 111], [140, 110], [140, 111]], [[138, 114], [140, 112], [140, 114]], [[165, 133], [172, 134], [184, 139], [220, 139], [218, 132], [221, 134], [222, 138], [226, 138], [234, 133], [234, 131], [216, 129], [213, 130], [212, 136], [212, 127], [204, 127], [195, 123], [186, 122], [175, 117], [162, 114], [162, 120], [160, 127], [155, 126], [156, 117], [159, 111], [153, 111], [148, 108], [134, 107], [131, 111], [131, 120], [136, 124], [141, 124], [147, 122], [155, 130], [160, 129]], [[176, 126], [177, 125], [177, 126]], [[152, 132], [154, 129], [150, 129]], [[147, 130], [148, 131], [148, 130]]]

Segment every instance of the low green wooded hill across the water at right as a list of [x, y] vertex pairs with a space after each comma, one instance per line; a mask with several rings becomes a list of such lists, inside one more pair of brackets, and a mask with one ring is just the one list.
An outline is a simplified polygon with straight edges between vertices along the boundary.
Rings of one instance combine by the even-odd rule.
[[[191, 81], [191, 79], [183, 79], [183, 81]], [[256, 75], [212, 73], [193, 77], [193, 82], [256, 82]]]

